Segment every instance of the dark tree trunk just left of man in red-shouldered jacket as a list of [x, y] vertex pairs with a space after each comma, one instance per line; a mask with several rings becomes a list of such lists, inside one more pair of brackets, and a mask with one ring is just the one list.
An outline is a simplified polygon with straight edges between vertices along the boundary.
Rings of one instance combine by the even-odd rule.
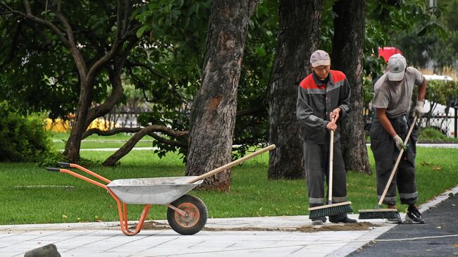
[[296, 118], [297, 87], [309, 74], [309, 56], [318, 45], [321, 0], [280, 4], [278, 47], [271, 80], [269, 179], [304, 177], [304, 154]]

